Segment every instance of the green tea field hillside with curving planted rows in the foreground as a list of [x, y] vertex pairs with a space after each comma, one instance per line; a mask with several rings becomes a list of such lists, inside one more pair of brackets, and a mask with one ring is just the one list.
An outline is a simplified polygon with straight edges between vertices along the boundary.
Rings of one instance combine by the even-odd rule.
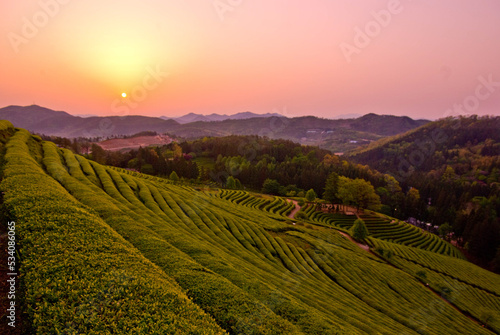
[[[498, 334], [500, 276], [367, 212], [103, 166], [0, 122], [27, 334]], [[5, 316], [2, 322], [6, 323]]]

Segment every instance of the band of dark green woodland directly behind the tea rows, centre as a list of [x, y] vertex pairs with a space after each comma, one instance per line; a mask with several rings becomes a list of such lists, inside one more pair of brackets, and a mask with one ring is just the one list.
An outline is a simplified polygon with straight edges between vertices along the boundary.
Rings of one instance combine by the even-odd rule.
[[[190, 155], [214, 160], [208, 175], [221, 186], [232, 176], [245, 187], [263, 193], [292, 197], [306, 197], [309, 193], [313, 200], [323, 194], [331, 202], [406, 217], [415, 214], [415, 203], [420, 197], [415, 188], [404, 192], [390, 175], [353, 164], [326, 150], [287, 140], [229, 136], [180, 146]], [[332, 178], [336, 178], [334, 182]], [[324, 194], [325, 185], [327, 190], [333, 190]]]

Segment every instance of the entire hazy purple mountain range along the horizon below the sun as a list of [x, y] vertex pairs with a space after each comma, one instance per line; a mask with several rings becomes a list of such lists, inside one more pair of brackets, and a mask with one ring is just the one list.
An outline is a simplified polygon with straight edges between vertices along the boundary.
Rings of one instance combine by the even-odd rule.
[[[217, 118], [230, 117], [218, 121]], [[201, 120], [198, 120], [201, 118]], [[31, 132], [68, 138], [129, 136], [142, 131], [169, 133], [194, 139], [204, 136], [260, 135], [318, 145], [345, 152], [380, 138], [404, 133], [428, 123], [409, 117], [367, 114], [355, 119], [332, 120], [315, 116], [287, 118], [277, 113], [235, 115], [188, 114], [179, 120], [147, 116], [78, 117], [32, 106], [0, 108], [0, 119]]]

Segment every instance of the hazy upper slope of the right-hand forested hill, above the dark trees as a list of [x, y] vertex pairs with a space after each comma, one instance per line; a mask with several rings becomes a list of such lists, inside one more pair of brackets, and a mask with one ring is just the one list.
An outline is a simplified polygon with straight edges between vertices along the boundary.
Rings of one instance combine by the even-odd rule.
[[475, 165], [486, 167], [499, 155], [500, 117], [472, 116], [431, 122], [374, 142], [349, 157], [403, 179], [413, 171], [444, 171], [448, 165], [462, 175]]

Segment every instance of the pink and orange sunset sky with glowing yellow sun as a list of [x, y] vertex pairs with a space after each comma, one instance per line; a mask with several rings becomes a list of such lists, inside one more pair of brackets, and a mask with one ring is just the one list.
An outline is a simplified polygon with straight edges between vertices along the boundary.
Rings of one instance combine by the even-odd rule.
[[0, 34], [0, 107], [500, 115], [498, 0], [2, 1]]

